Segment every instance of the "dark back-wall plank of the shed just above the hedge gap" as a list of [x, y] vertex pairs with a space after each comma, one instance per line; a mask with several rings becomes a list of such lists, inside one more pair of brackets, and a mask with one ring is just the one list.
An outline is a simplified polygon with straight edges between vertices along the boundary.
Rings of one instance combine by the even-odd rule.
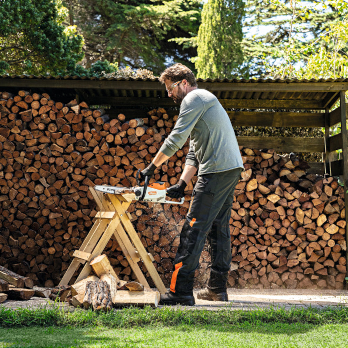
[[325, 113], [227, 111], [233, 126], [325, 127]]

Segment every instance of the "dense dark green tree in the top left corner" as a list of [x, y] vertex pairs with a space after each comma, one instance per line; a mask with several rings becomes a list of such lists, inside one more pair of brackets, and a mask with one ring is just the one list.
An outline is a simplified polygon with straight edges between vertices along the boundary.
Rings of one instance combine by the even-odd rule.
[[83, 58], [59, 0], [0, 0], [0, 74], [58, 74]]

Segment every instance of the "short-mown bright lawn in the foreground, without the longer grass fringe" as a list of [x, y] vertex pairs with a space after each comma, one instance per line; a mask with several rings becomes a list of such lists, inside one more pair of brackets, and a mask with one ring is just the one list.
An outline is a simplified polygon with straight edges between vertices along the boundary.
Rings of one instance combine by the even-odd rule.
[[0, 329], [1, 347], [347, 347], [347, 324]]

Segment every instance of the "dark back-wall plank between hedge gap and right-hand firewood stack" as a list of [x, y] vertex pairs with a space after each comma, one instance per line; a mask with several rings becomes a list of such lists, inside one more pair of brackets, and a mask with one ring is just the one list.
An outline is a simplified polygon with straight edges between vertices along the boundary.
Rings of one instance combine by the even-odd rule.
[[237, 136], [239, 146], [279, 152], [325, 152], [324, 138]]

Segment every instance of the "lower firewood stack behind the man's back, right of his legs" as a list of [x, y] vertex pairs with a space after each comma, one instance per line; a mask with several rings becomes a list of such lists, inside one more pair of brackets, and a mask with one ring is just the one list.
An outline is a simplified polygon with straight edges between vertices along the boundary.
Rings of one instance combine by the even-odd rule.
[[342, 288], [346, 273], [344, 191], [306, 174], [294, 154], [242, 150], [231, 214], [230, 284]]

